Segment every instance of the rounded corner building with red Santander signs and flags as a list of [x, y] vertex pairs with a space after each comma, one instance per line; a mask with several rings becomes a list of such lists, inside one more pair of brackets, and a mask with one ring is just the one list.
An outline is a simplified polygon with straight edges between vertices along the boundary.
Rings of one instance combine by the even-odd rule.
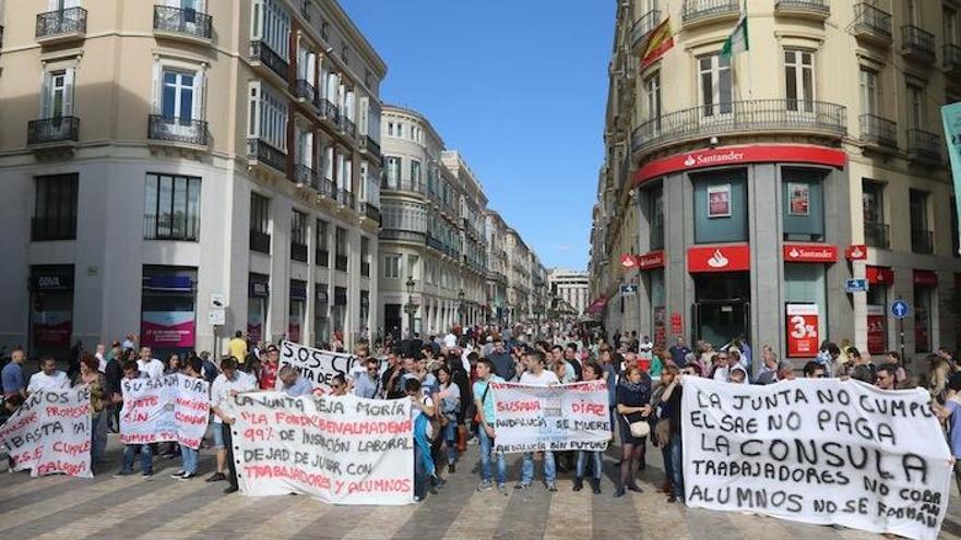
[[[750, 49], [728, 59], [721, 48], [743, 9], [619, 8], [592, 271], [621, 265], [613, 247], [626, 242], [608, 231], [634, 209], [638, 251], [620, 281], [641, 285], [624, 299], [641, 334], [715, 345], [744, 334], [797, 363], [824, 339], [882, 355], [902, 349], [890, 304], [903, 299], [917, 373], [924, 355], [957, 348], [961, 326], [939, 117], [961, 100], [958, 5], [751, 0]], [[675, 46], [642, 67], [667, 16]], [[616, 295], [605, 278], [596, 301]], [[851, 278], [868, 291], [846, 292]]]

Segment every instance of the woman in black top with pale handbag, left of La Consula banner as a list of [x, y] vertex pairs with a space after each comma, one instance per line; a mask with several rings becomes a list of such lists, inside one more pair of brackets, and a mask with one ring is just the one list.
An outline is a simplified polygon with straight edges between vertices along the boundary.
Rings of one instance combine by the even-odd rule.
[[614, 496], [624, 496], [626, 490], [642, 493], [634, 477], [643, 459], [644, 445], [651, 424], [651, 376], [637, 363], [628, 365], [617, 385], [617, 418], [620, 424], [620, 484]]

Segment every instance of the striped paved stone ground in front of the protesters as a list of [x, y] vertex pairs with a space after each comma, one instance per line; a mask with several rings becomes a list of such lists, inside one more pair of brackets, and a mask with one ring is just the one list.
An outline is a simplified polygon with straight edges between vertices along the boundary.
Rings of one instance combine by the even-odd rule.
[[[616, 449], [616, 448], [615, 448]], [[614, 458], [605, 460], [604, 493], [571, 491], [561, 475], [559, 491], [542, 484], [507, 495], [478, 493], [477, 449], [468, 446], [448, 485], [419, 505], [406, 507], [332, 506], [305, 496], [252, 499], [224, 495], [224, 482], [169, 478], [179, 460], [156, 460], [153, 481], [139, 475], [110, 476], [120, 457], [110, 435], [106, 471], [93, 480], [67, 477], [31, 479], [0, 476], [0, 538], [11, 539], [828, 539], [881, 538], [851, 529], [795, 524], [739, 513], [708, 512], [665, 504], [656, 493], [663, 480], [661, 453], [649, 447], [643, 494], [622, 499], [614, 492]], [[509, 464], [517, 479], [519, 460]], [[211, 451], [200, 471], [214, 468]], [[539, 464], [537, 467], [539, 472]], [[509, 483], [509, 487], [512, 482]], [[958, 492], [952, 485], [951, 497]], [[953, 502], [952, 501], [952, 502]], [[961, 539], [961, 505], [949, 506], [941, 538]]]

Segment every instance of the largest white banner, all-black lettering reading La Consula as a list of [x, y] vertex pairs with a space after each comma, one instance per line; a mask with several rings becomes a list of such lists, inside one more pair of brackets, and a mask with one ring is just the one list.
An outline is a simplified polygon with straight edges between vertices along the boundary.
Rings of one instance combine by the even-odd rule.
[[927, 392], [837, 379], [683, 388], [689, 506], [937, 538], [951, 456]]

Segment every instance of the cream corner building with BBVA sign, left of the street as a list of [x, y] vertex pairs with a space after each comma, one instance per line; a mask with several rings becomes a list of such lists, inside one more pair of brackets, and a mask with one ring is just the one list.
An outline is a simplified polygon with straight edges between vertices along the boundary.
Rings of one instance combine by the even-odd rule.
[[370, 336], [387, 68], [335, 1], [0, 5], [0, 343]]

